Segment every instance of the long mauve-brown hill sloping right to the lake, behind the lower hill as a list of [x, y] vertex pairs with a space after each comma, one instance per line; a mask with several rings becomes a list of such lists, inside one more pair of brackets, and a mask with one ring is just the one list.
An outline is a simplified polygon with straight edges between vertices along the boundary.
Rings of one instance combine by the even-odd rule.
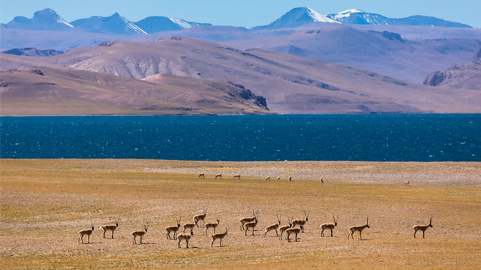
[[108, 41], [43, 60], [137, 79], [174, 74], [228, 80], [264, 96], [278, 113], [481, 112], [476, 91], [427, 87], [282, 52], [243, 51], [190, 38]]

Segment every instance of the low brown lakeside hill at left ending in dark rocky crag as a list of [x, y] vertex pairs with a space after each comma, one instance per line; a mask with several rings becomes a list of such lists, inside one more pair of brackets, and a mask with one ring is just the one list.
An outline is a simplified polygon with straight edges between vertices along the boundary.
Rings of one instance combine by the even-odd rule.
[[91, 71], [2, 71], [1, 115], [206, 115], [271, 113], [241, 85], [158, 75], [144, 81]]

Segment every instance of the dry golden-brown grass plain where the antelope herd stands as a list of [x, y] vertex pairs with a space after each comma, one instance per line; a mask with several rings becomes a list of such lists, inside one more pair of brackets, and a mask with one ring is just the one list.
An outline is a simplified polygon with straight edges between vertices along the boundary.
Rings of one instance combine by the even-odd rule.
[[[218, 172], [224, 179], [213, 179]], [[2, 269], [481, 268], [480, 163], [0, 159], [0, 177]], [[206, 221], [219, 216], [219, 231], [230, 227], [225, 247], [211, 248], [199, 228], [189, 249], [166, 239], [175, 216], [191, 221], [204, 205]], [[252, 209], [256, 235], [244, 236], [238, 220]], [[302, 210], [311, 215], [298, 243], [262, 237], [276, 214], [285, 224]], [[331, 214], [339, 214], [334, 237], [322, 238]], [[115, 216], [115, 239], [103, 239], [98, 227]], [[365, 240], [347, 240], [348, 227], [366, 216]], [[434, 227], [414, 239], [412, 226], [430, 216]], [[78, 244], [90, 218], [97, 218], [91, 244]], [[133, 245], [130, 233], [143, 221], [144, 245]]]

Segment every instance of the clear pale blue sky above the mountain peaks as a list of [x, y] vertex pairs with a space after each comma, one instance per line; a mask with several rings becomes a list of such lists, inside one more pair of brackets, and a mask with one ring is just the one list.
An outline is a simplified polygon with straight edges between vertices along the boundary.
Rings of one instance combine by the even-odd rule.
[[252, 27], [270, 23], [300, 6], [321, 14], [356, 8], [392, 18], [436, 16], [481, 28], [481, 0], [1, 0], [0, 22], [8, 23], [14, 16], [31, 18], [37, 10], [52, 8], [66, 21], [119, 12], [130, 21], [148, 16], [173, 16], [214, 25]]

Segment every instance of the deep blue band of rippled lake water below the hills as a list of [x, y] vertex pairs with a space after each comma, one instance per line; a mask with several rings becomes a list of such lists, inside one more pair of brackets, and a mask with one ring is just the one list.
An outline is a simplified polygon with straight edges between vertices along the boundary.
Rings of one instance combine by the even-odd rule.
[[0, 117], [0, 157], [481, 161], [481, 115]]

